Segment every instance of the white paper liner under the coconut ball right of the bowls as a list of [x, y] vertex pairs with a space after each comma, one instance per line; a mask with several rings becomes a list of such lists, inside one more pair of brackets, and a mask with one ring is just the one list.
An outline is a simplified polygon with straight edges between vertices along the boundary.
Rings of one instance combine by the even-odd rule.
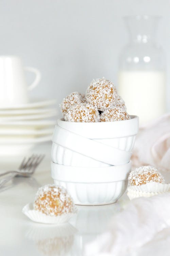
[[150, 182], [141, 186], [128, 187], [128, 197], [130, 200], [137, 197], [150, 197], [161, 193], [170, 193], [170, 184]]

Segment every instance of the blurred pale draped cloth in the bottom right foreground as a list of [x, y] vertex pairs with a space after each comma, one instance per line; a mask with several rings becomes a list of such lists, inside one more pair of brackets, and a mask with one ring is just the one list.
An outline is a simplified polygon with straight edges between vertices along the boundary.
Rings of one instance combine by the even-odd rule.
[[[159, 194], [149, 198], [136, 198], [129, 203], [125, 210], [113, 216], [108, 229], [103, 234], [85, 246], [84, 255], [138, 255], [135, 252], [139, 251], [139, 248], [142, 248], [141, 246], [144, 245], [146, 251], [148, 247], [145, 247], [145, 244], [152, 240], [158, 232], [164, 231], [165, 229], [167, 233], [169, 228], [170, 193]], [[166, 233], [163, 236], [166, 236]], [[170, 232], [167, 237], [169, 235]], [[163, 240], [165, 239], [164, 237]], [[165, 248], [165, 243], [163, 246], [161, 248], [162, 252], [166, 249], [166, 252], [168, 250], [168, 253], [170, 253], [169, 242], [167, 248]], [[151, 254], [147, 254], [146, 252], [145, 255]]]

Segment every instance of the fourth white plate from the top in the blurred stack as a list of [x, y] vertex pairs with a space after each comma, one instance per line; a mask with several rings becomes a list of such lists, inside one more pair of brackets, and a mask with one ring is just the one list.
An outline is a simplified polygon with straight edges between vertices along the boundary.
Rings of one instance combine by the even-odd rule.
[[55, 120], [28, 120], [28, 121], [0, 121], [0, 127], [3, 129], [8, 129], [10, 127], [13, 128], [26, 128], [26, 129], [31, 129], [34, 127], [34, 129], [40, 129], [43, 127], [47, 127], [47, 126], [54, 126], [56, 125], [56, 121]]

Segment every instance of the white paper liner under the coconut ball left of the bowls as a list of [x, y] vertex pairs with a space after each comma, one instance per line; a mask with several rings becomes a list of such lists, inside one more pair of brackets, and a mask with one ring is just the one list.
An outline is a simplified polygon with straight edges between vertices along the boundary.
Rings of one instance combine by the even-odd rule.
[[74, 207], [73, 212], [66, 213], [58, 216], [48, 216], [42, 212], [34, 210], [33, 204], [27, 204], [22, 209], [23, 214], [25, 214], [30, 220], [45, 223], [45, 224], [62, 224], [66, 223], [78, 212], [78, 209]]

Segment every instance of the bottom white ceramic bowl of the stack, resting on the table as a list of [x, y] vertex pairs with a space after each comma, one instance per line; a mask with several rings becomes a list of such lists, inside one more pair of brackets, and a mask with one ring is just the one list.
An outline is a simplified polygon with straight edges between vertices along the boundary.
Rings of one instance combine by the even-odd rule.
[[131, 162], [108, 167], [73, 167], [51, 163], [56, 185], [64, 186], [78, 205], [115, 203], [125, 192]]

